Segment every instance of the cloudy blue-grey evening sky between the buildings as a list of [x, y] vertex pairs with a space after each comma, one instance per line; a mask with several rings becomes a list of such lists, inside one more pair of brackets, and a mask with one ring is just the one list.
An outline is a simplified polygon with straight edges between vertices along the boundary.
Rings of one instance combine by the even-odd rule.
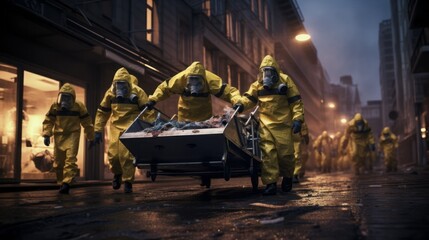
[[378, 26], [389, 0], [297, 0], [304, 25], [332, 83], [351, 75], [362, 105], [379, 100]]

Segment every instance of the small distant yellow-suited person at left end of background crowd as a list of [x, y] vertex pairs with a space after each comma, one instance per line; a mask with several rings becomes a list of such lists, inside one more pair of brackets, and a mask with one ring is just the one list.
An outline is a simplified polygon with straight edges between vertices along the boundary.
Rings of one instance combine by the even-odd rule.
[[322, 172], [331, 172], [332, 164], [332, 138], [327, 131], [323, 131], [314, 142], [314, 148], [319, 154], [320, 170]]

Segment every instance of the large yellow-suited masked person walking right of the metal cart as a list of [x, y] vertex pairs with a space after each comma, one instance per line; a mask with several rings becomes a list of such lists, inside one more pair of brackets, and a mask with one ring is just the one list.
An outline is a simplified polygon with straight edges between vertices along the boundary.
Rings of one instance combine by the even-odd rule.
[[289, 192], [295, 168], [292, 133], [301, 131], [304, 106], [295, 83], [270, 55], [264, 57], [256, 81], [235, 107], [245, 110], [256, 105], [259, 106], [261, 179], [266, 185], [262, 194], [275, 195], [280, 176], [283, 177], [282, 190]]

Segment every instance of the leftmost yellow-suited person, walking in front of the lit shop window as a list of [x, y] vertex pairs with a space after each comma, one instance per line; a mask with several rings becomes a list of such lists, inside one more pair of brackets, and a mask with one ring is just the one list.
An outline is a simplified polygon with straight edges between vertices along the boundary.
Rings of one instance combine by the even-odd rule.
[[76, 99], [76, 92], [69, 83], [65, 83], [58, 94], [45, 120], [43, 121], [44, 144], [49, 146], [54, 137], [54, 169], [59, 192], [68, 194], [70, 185], [78, 174], [77, 153], [81, 125], [88, 140], [94, 140], [94, 125], [85, 105]]

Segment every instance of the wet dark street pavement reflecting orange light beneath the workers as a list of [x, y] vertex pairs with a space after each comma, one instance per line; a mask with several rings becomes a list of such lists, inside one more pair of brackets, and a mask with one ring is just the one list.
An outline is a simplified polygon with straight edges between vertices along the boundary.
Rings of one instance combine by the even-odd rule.
[[[260, 186], [262, 190], [263, 186]], [[429, 172], [310, 172], [291, 193], [252, 193], [249, 178], [162, 177], [0, 194], [0, 239], [429, 239]]]

